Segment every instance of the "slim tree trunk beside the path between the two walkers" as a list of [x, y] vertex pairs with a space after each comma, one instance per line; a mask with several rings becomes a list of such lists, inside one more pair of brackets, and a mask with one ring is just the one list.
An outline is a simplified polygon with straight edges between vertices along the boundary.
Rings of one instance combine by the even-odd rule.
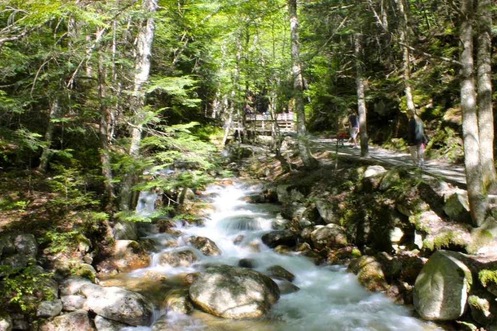
[[362, 37], [360, 33], [355, 34], [355, 66], [356, 66], [356, 85], [357, 85], [357, 112], [359, 114], [359, 134], [361, 137], [361, 157], [369, 157], [368, 149], [368, 131], [366, 125], [366, 101], [364, 97], [364, 73], [361, 63], [362, 55]]

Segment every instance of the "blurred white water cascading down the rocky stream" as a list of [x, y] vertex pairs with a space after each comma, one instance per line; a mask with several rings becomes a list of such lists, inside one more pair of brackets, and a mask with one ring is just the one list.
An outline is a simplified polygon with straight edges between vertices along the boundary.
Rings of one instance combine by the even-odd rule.
[[[253, 261], [254, 268], [264, 272], [268, 266], [280, 265], [295, 275], [293, 283], [300, 290], [281, 295], [272, 306], [268, 316], [257, 323], [230, 321], [217, 325], [206, 322], [205, 316], [183, 315], [168, 312], [166, 319], [174, 329], [164, 330], [336, 330], [336, 331], [423, 331], [434, 330], [420, 320], [411, 317], [411, 311], [396, 305], [382, 293], [366, 291], [356, 280], [339, 266], [316, 266], [309, 258], [299, 255], [282, 255], [273, 252], [260, 240], [271, 230], [279, 206], [276, 204], [251, 204], [240, 200], [244, 195], [261, 192], [257, 183], [235, 182], [228, 187], [209, 186], [203, 199], [214, 207], [203, 227], [178, 227], [182, 235], [178, 242], [184, 245], [189, 236], [203, 236], [213, 240], [222, 251], [219, 256], [204, 256], [189, 247], [197, 263], [191, 267], [165, 267], [157, 263], [161, 253], [183, 248], [162, 248], [152, 254], [152, 265], [137, 270], [130, 277], [141, 277], [147, 270], [155, 270], [168, 278], [184, 272], [199, 271], [204, 264], [225, 263], [238, 265], [241, 258]], [[146, 208], [146, 207], [145, 207]], [[145, 209], [144, 208], [144, 209]], [[240, 241], [240, 236], [243, 239]], [[176, 237], [168, 234], [154, 234], [159, 247]], [[237, 242], [237, 244], [235, 244]], [[158, 312], [157, 315], [165, 312]], [[150, 327], [125, 328], [123, 330], [148, 331]]]

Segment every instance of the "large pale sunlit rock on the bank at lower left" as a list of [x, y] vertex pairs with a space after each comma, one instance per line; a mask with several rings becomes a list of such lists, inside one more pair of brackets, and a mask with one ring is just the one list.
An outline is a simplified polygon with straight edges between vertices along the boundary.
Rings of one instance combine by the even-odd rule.
[[152, 318], [152, 302], [139, 293], [120, 287], [101, 287], [84, 285], [86, 306], [95, 314], [106, 319], [132, 326], [148, 325]]

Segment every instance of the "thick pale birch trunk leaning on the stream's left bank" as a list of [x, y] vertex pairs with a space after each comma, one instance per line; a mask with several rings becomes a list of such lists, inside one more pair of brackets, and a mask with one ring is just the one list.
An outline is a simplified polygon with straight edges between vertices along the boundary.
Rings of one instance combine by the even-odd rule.
[[[158, 0], [142, 0], [142, 8], [149, 14], [156, 11]], [[149, 17], [140, 24], [137, 36], [137, 56], [135, 59], [134, 95], [131, 99], [131, 109], [134, 112], [134, 120], [131, 122], [131, 145], [128, 151], [133, 160], [140, 156], [140, 144], [143, 131], [143, 115], [140, 115], [145, 106], [146, 95], [143, 89], [144, 83], [149, 79], [150, 56], [152, 54], [152, 44], [155, 36], [155, 21]], [[131, 167], [126, 172], [120, 192], [119, 207], [122, 210], [129, 210], [131, 206], [131, 187], [136, 176], [136, 168]]]

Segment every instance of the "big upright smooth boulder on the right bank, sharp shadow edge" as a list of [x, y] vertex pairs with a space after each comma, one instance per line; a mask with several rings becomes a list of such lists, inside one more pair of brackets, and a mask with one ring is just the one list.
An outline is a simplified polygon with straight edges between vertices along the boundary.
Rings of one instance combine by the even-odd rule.
[[473, 282], [461, 261], [462, 253], [438, 250], [423, 266], [414, 283], [414, 308], [428, 321], [457, 320], [466, 308]]

